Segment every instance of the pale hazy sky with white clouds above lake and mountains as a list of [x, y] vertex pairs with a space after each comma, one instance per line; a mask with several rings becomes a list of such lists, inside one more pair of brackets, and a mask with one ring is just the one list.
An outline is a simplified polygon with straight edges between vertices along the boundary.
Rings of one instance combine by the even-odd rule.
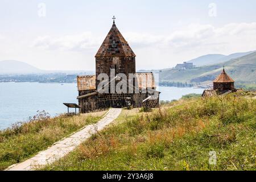
[[137, 69], [209, 53], [256, 50], [255, 0], [0, 0], [0, 60], [48, 70], [92, 70], [112, 16]]

